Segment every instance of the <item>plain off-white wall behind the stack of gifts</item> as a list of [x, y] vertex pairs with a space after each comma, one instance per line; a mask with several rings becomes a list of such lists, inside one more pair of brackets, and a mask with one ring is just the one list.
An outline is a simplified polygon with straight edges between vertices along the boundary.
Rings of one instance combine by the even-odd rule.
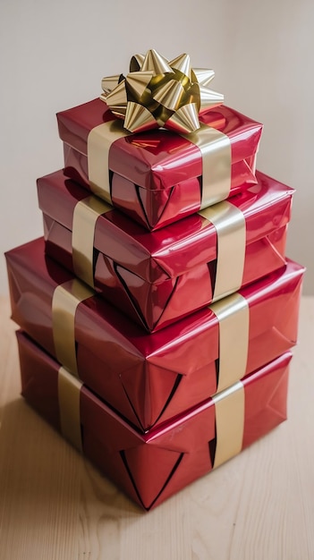
[[55, 113], [156, 48], [213, 68], [226, 105], [264, 123], [259, 169], [296, 189], [288, 254], [314, 293], [313, 0], [0, 0], [0, 293], [4, 250], [42, 234], [36, 178], [62, 167]]

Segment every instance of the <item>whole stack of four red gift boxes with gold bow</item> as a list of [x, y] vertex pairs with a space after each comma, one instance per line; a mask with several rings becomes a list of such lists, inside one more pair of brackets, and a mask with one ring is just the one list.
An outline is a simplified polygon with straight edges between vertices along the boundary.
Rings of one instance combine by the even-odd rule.
[[149, 51], [59, 113], [45, 237], [6, 253], [22, 395], [146, 510], [286, 418], [293, 190], [212, 77]]

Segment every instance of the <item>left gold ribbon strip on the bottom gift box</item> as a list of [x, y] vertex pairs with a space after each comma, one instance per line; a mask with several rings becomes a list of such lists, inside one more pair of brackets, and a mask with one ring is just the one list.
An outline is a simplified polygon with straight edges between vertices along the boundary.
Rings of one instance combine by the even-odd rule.
[[61, 432], [78, 451], [82, 451], [81, 386], [81, 381], [74, 378], [66, 369], [63, 367], [59, 369], [58, 400]]

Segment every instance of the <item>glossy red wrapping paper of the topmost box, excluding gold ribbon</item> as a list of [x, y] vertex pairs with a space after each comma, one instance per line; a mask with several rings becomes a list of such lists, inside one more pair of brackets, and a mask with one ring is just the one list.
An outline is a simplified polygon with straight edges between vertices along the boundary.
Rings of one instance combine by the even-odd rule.
[[[87, 189], [89, 132], [112, 118], [100, 99], [57, 114], [59, 135], [64, 140], [65, 173]], [[262, 125], [226, 106], [210, 110], [199, 119], [230, 139], [230, 195], [254, 183]], [[201, 153], [179, 134], [157, 130], [116, 140], [109, 152], [109, 169], [113, 205], [150, 230], [200, 208]]]

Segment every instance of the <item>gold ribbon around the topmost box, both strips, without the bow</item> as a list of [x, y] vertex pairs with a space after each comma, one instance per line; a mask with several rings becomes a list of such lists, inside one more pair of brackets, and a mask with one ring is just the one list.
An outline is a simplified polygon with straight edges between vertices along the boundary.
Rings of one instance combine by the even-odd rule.
[[[115, 140], [131, 132], [119, 120], [98, 124], [88, 136], [88, 174], [91, 191], [112, 204], [109, 174], [109, 150]], [[198, 146], [202, 157], [200, 208], [207, 208], [228, 197], [231, 189], [231, 143], [224, 132], [200, 123], [196, 132], [180, 134]]]

